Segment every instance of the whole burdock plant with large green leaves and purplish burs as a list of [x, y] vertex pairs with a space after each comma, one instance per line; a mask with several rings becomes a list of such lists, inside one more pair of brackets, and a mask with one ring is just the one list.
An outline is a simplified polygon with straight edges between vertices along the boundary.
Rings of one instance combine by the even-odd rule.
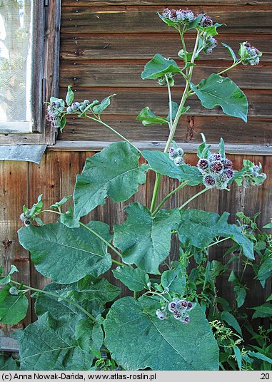
[[[39, 195], [33, 207], [23, 207], [20, 218], [26, 227], [19, 229], [19, 242], [31, 252], [37, 271], [52, 280], [43, 290], [26, 286], [12, 279], [12, 274], [18, 271], [14, 266], [5, 277], [0, 277], [0, 284], [6, 284], [1, 304], [17, 309], [16, 319], [14, 315], [1, 319], [0, 314], [4, 324], [24, 319], [28, 306], [25, 294], [35, 291], [31, 297], [36, 298], [38, 319], [17, 337], [23, 370], [37, 367], [92, 370], [106, 364], [105, 353], [112, 369], [218, 370], [228, 360], [233, 369], [233, 359], [240, 351], [239, 342], [234, 341], [230, 352], [224, 353], [219, 363], [220, 349], [212, 323], [223, 322], [223, 328], [230, 324], [241, 335], [231, 312], [236, 315], [241, 300], [245, 299], [246, 287], [232, 271], [228, 281], [233, 282], [234, 291], [240, 294], [237, 309], [235, 306], [231, 310], [226, 299], [219, 299], [216, 277], [227, 272], [228, 264], [232, 267], [236, 259], [238, 264], [253, 264], [256, 237], [248, 234], [243, 224], [229, 224], [227, 212], [220, 216], [187, 205], [191, 207], [190, 203], [203, 192], [229, 192], [234, 183], [242, 187], [260, 186], [266, 174], [261, 163], [251, 162], [249, 158], [243, 160], [241, 169], [236, 168], [235, 157], [228, 158], [223, 138], [219, 143], [206, 143], [208, 132], [201, 133], [197, 158], [188, 164], [186, 150], [175, 141], [175, 134], [181, 116], [190, 115], [187, 101], [191, 97], [203, 108], [219, 108], [222, 113], [246, 123], [246, 95], [229, 78], [229, 73], [222, 75], [240, 64], [257, 65], [261, 52], [248, 41], [241, 42], [237, 53], [222, 43], [232, 63], [196, 83], [193, 73], [201, 66], [199, 60], [216, 51], [218, 29], [225, 25], [190, 9], [166, 8], [158, 17], [180, 37], [180, 46], [173, 45], [173, 56], [178, 63], [172, 57], [156, 53], [143, 67], [143, 81], [154, 81], [156, 86], [164, 87], [161, 91], [165, 91], [165, 113], [157, 115], [146, 106], [136, 121], [145, 130], [150, 129], [150, 134], [152, 125], [165, 128], [168, 137], [163, 150], [140, 150], [104, 122], [103, 113], [115, 94], [103, 100], [97, 100], [95, 95], [94, 99], [85, 96], [89, 99], [75, 100], [68, 86], [65, 100], [51, 97], [47, 103], [46, 118], [52, 127], [62, 131], [66, 118], [87, 118], [90, 123], [114, 133], [118, 142], [86, 159], [84, 169], [76, 177], [73, 195], [64, 196], [46, 209]], [[188, 48], [193, 36], [193, 47]], [[178, 81], [182, 81], [182, 87]], [[176, 83], [182, 91], [179, 99], [173, 100], [172, 89]], [[154, 177], [150, 177], [153, 184], [148, 185], [153, 187], [150, 205], [130, 202], [138, 187], [146, 182], [147, 172], [154, 172]], [[165, 188], [161, 187], [163, 177], [173, 179], [176, 187], [168, 195], [161, 195]], [[200, 191], [181, 202], [183, 195], [191, 195], [182, 189], [196, 186]], [[172, 203], [171, 209], [166, 209], [166, 202], [173, 195], [178, 196], [176, 207]], [[107, 199], [113, 203], [126, 202], [124, 222], [118, 219], [114, 227], [95, 220], [85, 224], [89, 213], [103, 206]], [[41, 220], [48, 213], [57, 217], [55, 223], [44, 224]], [[172, 239], [175, 246], [171, 245]], [[229, 247], [235, 248], [235, 256], [223, 264], [221, 247], [214, 260], [209, 251], [224, 240], [231, 242]], [[0, 276], [3, 270], [0, 267]], [[124, 290], [129, 291], [129, 296], [119, 296], [121, 289], [103, 278], [109, 271], [127, 288]], [[60, 310], [57, 304], [61, 304]], [[48, 355], [48, 341], [42, 341], [47, 333], [50, 333], [50, 351], [62, 349], [57, 366]], [[41, 341], [37, 342], [38, 335]], [[183, 341], [184, 335], [190, 339], [189, 343]], [[71, 344], [68, 347], [63, 346], [67, 338]], [[250, 361], [252, 354], [253, 351], [247, 353], [243, 362]], [[241, 363], [237, 363], [241, 369]]]

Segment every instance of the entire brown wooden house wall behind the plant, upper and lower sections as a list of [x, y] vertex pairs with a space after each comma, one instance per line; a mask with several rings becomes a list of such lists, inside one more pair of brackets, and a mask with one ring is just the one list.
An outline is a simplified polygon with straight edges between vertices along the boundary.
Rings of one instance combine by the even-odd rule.
[[[62, 0], [61, 17], [61, 61], [59, 93], [64, 97], [69, 84], [73, 86], [78, 100], [104, 98], [116, 93], [111, 107], [106, 110], [104, 120], [127, 138], [138, 142], [165, 141], [168, 135], [166, 127], [155, 126], [144, 128], [136, 121], [141, 108], [148, 105], [155, 113], [167, 113], [168, 96], [166, 88], [156, 86], [154, 81], [142, 81], [141, 71], [145, 63], [155, 53], [171, 56], [176, 59], [180, 48], [178, 35], [168, 28], [156, 16], [162, 11], [166, 1], [161, 0]], [[185, 4], [185, 5], [184, 5]], [[197, 143], [203, 132], [211, 143], [218, 143], [223, 137], [226, 143], [271, 145], [271, 16], [270, 0], [172, 0], [167, 4], [173, 8], [190, 8], [199, 13], [205, 11], [214, 21], [225, 23], [218, 36], [218, 48], [211, 56], [201, 57], [200, 68], [193, 76], [197, 82], [207, 77], [212, 71], [221, 71], [231, 61], [220, 42], [228, 43], [238, 51], [238, 43], [251, 41], [263, 51], [261, 65], [256, 67], [241, 66], [229, 74], [241, 86], [249, 100], [248, 123], [227, 117], [221, 110], [206, 110], [198, 100], [191, 99], [191, 114], [184, 116], [178, 127], [176, 141], [178, 143]], [[192, 44], [192, 35], [190, 44]], [[178, 60], [177, 60], [178, 61]], [[180, 62], [180, 61], [178, 61]], [[177, 81], [178, 83], [178, 81]], [[182, 83], [173, 88], [173, 100], [181, 98]], [[60, 141], [110, 141], [115, 140], [108, 130], [99, 125], [91, 125], [86, 120], [69, 118], [64, 133], [59, 134]], [[59, 142], [61, 143], [61, 142]], [[76, 145], [74, 145], [76, 147]], [[0, 162], [0, 256], [1, 263], [8, 269], [11, 264], [19, 268], [17, 280], [24, 281], [34, 287], [44, 287], [48, 280], [41, 277], [31, 266], [29, 253], [18, 242], [17, 229], [22, 224], [19, 215], [23, 205], [31, 206], [41, 193], [44, 204], [49, 207], [52, 202], [60, 200], [73, 191], [76, 174], [81, 172], [86, 156], [93, 152], [74, 150], [46, 150], [40, 165], [28, 162]], [[228, 155], [241, 167], [241, 155]], [[272, 217], [272, 157], [250, 155], [248, 159], [263, 164], [268, 180], [261, 186], [250, 190], [233, 185], [231, 192], [211, 190], [191, 203], [190, 207], [222, 213], [231, 212], [234, 222], [235, 213], [243, 211], [253, 215], [261, 211], [258, 222], [262, 227]], [[196, 155], [188, 154], [187, 162], [196, 164]], [[138, 200], [147, 205], [151, 202], [153, 191], [153, 172], [148, 172], [146, 185], [139, 187], [138, 194], [131, 200]], [[159, 197], [173, 190], [176, 182], [165, 179], [162, 182]], [[175, 195], [171, 204], [166, 207], [181, 205], [196, 192], [198, 187], [189, 187]], [[112, 204], [107, 201], [104, 207], [98, 207], [91, 213], [94, 220], [104, 220], [113, 227], [125, 218], [124, 207], [130, 201]], [[47, 217], [49, 222], [52, 217]], [[226, 244], [228, 245], [228, 244]], [[213, 253], [221, 258], [222, 251]], [[241, 272], [241, 264], [235, 266]], [[112, 279], [111, 273], [108, 274]], [[246, 281], [251, 286], [249, 299], [252, 296], [263, 301], [268, 296], [271, 285], [265, 290], [253, 290], [253, 275], [246, 274]], [[218, 285], [227, 296], [230, 294], [227, 279]], [[123, 291], [129, 294], [129, 291]], [[33, 306], [23, 324], [13, 328], [2, 328], [5, 332], [15, 330], [34, 319]]]

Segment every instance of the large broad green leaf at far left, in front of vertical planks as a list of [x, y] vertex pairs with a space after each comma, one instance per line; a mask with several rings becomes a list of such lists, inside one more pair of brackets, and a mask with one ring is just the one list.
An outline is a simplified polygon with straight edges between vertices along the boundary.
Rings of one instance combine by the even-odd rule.
[[[87, 225], [107, 241], [111, 240], [107, 224]], [[86, 274], [97, 277], [111, 267], [106, 244], [85, 227], [68, 228], [58, 222], [24, 227], [18, 234], [21, 245], [31, 252], [36, 269], [59, 284], [76, 282]]]

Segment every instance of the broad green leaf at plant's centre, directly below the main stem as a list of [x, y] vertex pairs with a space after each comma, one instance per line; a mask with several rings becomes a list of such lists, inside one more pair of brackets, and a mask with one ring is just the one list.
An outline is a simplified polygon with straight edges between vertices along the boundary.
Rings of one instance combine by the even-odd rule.
[[152, 217], [146, 207], [131, 203], [126, 212], [126, 222], [114, 226], [114, 245], [126, 264], [159, 274], [158, 266], [170, 251], [171, 229], [180, 220], [178, 210], [161, 210]]

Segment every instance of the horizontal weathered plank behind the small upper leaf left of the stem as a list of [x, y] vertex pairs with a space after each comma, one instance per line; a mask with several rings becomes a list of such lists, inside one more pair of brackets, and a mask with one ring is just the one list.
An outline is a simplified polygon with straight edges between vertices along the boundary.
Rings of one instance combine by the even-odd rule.
[[[182, 65], [181, 61], [177, 61]], [[156, 81], [141, 79], [141, 72], [146, 61], [61, 61], [59, 86], [74, 86], [74, 89], [91, 86], [118, 86], [118, 87], [150, 87]], [[219, 73], [231, 66], [231, 62], [199, 61], [193, 72], [193, 82], [198, 83], [211, 73]], [[271, 89], [271, 63], [260, 63], [258, 66], [238, 66], [228, 72], [228, 76], [241, 88]], [[176, 84], [181, 86], [183, 78], [175, 77]]]

